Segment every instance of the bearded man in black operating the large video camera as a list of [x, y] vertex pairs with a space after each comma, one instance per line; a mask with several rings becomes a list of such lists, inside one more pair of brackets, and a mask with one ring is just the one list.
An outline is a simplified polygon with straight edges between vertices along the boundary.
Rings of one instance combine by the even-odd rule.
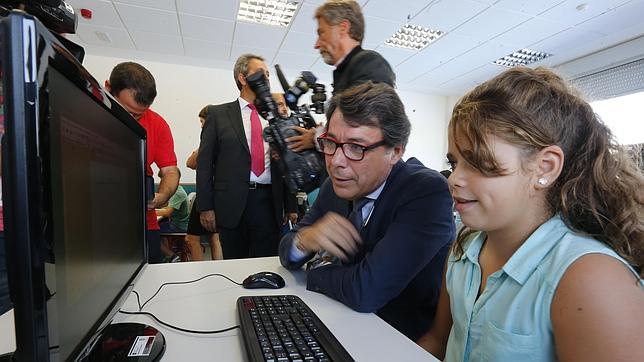
[[[396, 75], [391, 66], [373, 50], [362, 49], [364, 16], [358, 2], [330, 0], [315, 11], [318, 22], [318, 39], [315, 49], [325, 63], [335, 66], [333, 94], [367, 81], [382, 82], [395, 87]], [[295, 152], [316, 147], [316, 134], [322, 127], [298, 129], [300, 136], [287, 139]]]

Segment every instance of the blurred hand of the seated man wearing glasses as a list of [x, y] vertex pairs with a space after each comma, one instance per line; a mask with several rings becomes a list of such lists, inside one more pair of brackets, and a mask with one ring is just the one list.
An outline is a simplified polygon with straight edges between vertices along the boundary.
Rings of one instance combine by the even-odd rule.
[[360, 234], [351, 221], [335, 212], [328, 212], [311, 226], [298, 231], [299, 248], [317, 253], [324, 249], [341, 260], [358, 251]]

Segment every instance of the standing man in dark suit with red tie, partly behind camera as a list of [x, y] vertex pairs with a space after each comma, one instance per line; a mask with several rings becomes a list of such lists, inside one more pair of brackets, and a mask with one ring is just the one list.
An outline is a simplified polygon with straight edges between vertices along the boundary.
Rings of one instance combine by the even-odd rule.
[[267, 125], [254, 106], [255, 93], [246, 77], [263, 71], [264, 59], [243, 54], [235, 63], [239, 98], [210, 106], [197, 157], [197, 211], [203, 227], [219, 231], [224, 258], [277, 254], [279, 228], [287, 197], [289, 216], [295, 199], [285, 196], [277, 167], [271, 167], [269, 146], [262, 139]]

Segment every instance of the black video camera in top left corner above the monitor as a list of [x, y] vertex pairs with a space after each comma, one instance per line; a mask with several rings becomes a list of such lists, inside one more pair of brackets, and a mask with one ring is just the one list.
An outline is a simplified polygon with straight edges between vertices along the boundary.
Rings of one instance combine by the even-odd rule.
[[78, 18], [74, 8], [63, 0], [9, 0], [0, 5], [0, 16], [6, 16], [11, 9], [19, 9], [40, 20], [49, 30], [58, 34], [74, 34]]

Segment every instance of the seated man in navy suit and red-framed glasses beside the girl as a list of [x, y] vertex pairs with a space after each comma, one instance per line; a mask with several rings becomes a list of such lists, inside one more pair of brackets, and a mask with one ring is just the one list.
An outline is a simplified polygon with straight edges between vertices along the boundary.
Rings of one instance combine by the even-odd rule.
[[280, 243], [288, 269], [308, 260], [308, 290], [376, 312], [412, 340], [434, 319], [454, 238], [445, 178], [401, 161], [410, 123], [396, 92], [371, 82], [337, 94], [318, 138], [329, 179]]

